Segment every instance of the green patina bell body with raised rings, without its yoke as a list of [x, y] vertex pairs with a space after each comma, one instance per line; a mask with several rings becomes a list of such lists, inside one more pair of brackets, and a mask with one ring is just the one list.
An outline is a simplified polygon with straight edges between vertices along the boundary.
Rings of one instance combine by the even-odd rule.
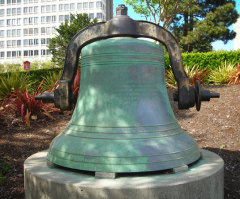
[[159, 45], [113, 38], [82, 49], [78, 101], [69, 125], [51, 143], [48, 160], [120, 173], [175, 168], [199, 157], [170, 106]]

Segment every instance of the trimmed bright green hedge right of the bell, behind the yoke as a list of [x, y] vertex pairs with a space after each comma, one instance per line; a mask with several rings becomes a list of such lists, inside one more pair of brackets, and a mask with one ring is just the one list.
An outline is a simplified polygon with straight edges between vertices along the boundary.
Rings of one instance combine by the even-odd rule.
[[[198, 66], [199, 69], [207, 68], [214, 70], [221, 66], [222, 63], [227, 62], [233, 65], [240, 63], [240, 50], [238, 51], [212, 51], [207, 53], [182, 53], [183, 65]], [[168, 55], [165, 55], [166, 68], [170, 67], [170, 60]]]

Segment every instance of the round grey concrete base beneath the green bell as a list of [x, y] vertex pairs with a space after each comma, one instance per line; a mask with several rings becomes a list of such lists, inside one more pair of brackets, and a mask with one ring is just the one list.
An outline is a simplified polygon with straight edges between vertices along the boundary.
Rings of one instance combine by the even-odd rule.
[[223, 199], [223, 160], [201, 150], [202, 159], [176, 174], [96, 179], [72, 170], [49, 168], [47, 151], [24, 163], [26, 199]]

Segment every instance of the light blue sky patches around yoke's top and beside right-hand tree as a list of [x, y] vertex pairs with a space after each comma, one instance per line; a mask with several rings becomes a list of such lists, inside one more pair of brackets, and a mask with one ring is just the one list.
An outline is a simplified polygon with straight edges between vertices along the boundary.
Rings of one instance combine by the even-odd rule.
[[[124, 4], [124, 0], [113, 0], [113, 15], [116, 15], [116, 7], [119, 4]], [[236, 0], [236, 9], [238, 13], [240, 13], [240, 0]], [[145, 17], [136, 14], [131, 6], [128, 6], [128, 16], [131, 17], [134, 20], [146, 20]], [[233, 29], [233, 25], [230, 27], [230, 29]], [[216, 41], [212, 43], [213, 50], [234, 50], [233, 40], [228, 41], [227, 44], [224, 44], [222, 41]]]

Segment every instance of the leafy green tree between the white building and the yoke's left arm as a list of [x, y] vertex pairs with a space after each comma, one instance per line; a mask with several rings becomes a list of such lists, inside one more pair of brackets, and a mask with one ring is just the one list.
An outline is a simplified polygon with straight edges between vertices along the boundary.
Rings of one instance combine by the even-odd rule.
[[56, 28], [57, 35], [50, 39], [48, 48], [52, 54], [52, 61], [58, 66], [64, 65], [66, 50], [73, 36], [83, 28], [97, 23], [97, 19], [91, 20], [86, 13], [70, 15], [59, 28]]

